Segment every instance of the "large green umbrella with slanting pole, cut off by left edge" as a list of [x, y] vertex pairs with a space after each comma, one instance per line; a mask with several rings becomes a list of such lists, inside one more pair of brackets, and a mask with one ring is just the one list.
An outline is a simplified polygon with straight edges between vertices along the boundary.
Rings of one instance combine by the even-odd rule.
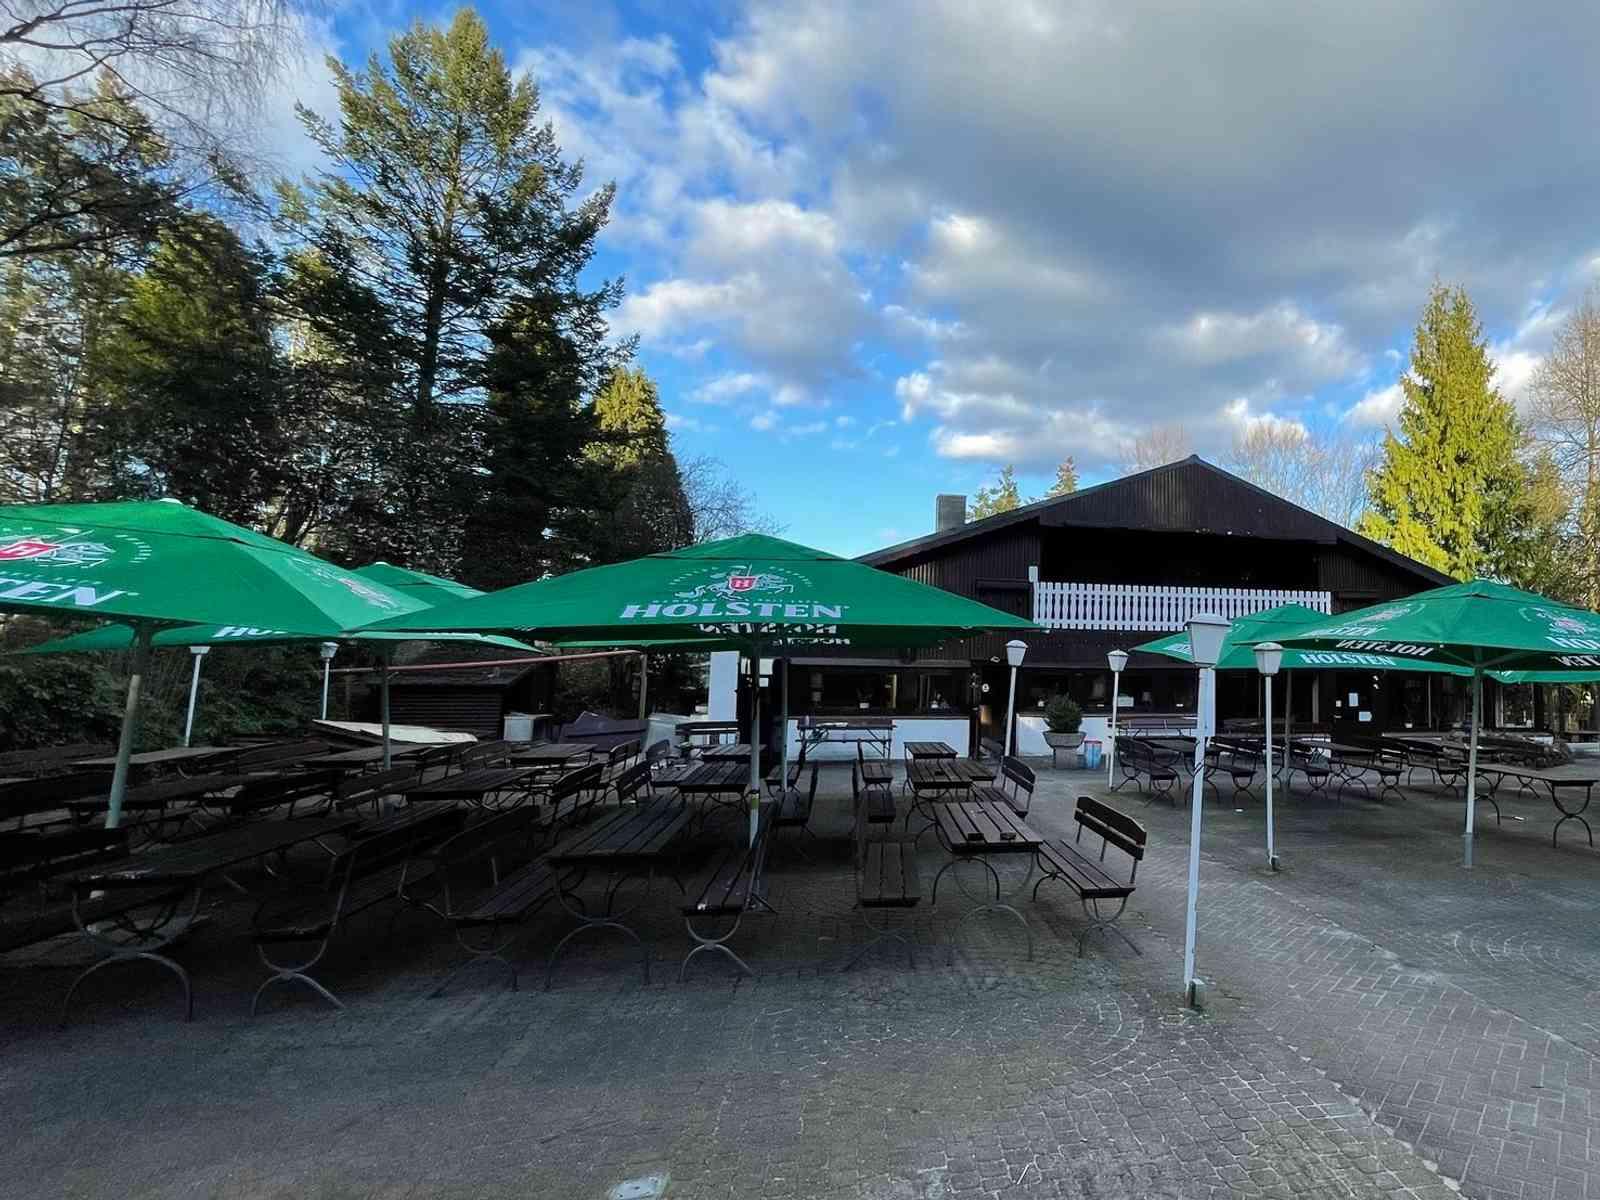
[[133, 632], [107, 827], [122, 819], [139, 691], [158, 630], [211, 624], [325, 638], [424, 608], [178, 501], [0, 506], [0, 611], [99, 618]]

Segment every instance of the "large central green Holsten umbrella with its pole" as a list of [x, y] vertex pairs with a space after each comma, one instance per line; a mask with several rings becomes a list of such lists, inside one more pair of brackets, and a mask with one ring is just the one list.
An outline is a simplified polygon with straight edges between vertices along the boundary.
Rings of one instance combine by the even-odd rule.
[[[760, 656], [816, 645], [901, 650], [1038, 626], [826, 550], [741, 534], [682, 550], [518, 584], [430, 608], [429, 629], [525, 632], [552, 642], [610, 642]], [[374, 629], [422, 627], [414, 614]], [[757, 728], [752, 714], [752, 744]], [[787, 736], [784, 746], [787, 749]], [[750, 755], [750, 792], [760, 789]], [[752, 830], [755, 814], [750, 816]]]

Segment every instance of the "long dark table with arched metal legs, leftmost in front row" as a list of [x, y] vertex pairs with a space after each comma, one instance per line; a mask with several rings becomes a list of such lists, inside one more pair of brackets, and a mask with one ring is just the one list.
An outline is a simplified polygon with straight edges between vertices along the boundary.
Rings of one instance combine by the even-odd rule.
[[[72, 981], [66, 1000], [61, 1002], [61, 1019], [66, 1021], [72, 997], [91, 974], [114, 963], [147, 960], [160, 963], [178, 976], [184, 986], [184, 1019], [192, 1021], [195, 1005], [189, 973], [162, 950], [194, 925], [206, 883], [213, 878], [222, 878], [238, 891], [245, 891], [229, 875], [234, 867], [290, 850], [302, 842], [342, 834], [360, 822], [354, 816], [258, 821], [66, 875], [62, 882], [72, 888], [72, 920], [90, 946], [102, 950], [106, 957], [91, 963]], [[96, 928], [93, 922], [86, 923], [82, 915], [83, 901], [94, 891], [114, 888], [147, 890], [152, 893], [152, 902], [147, 907], [130, 909], [107, 928]]]

